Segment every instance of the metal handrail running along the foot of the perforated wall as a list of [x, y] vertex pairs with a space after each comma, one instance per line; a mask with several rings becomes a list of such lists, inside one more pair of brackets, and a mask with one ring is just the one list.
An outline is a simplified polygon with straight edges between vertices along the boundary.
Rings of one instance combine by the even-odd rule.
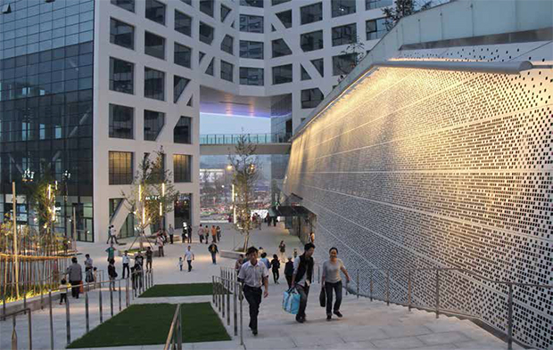
[[[426, 310], [426, 311], [431, 311], [431, 312], [436, 313], [436, 318], [439, 318], [439, 315], [440, 315], [441, 312], [442, 313], [451, 313], [451, 314], [458, 314], [458, 315], [462, 315], [462, 316], [467, 316], [467, 317], [478, 319], [478, 320], [480, 320], [480, 321], [482, 321], [486, 324], [489, 324], [495, 330], [498, 330], [498, 329], [494, 325], [490, 324], [489, 322], [487, 322], [486, 320], [481, 318], [480, 316], [470, 314], [470, 313], [459, 313], [458, 311], [445, 309], [441, 306], [441, 304], [440, 304], [440, 284], [441, 284], [440, 283], [440, 273], [441, 272], [447, 272], [447, 271], [458, 272], [458, 273], [467, 273], [467, 274], [470, 274], [472, 276], [475, 276], [475, 278], [477, 278], [479, 280], [482, 280], [482, 281], [487, 281], [487, 282], [490, 282], [490, 283], [495, 283], [495, 284], [499, 284], [499, 285], [508, 286], [508, 325], [507, 325], [508, 332], [507, 332], [507, 334], [505, 334], [502, 330], [499, 330], [500, 332], [504, 333], [505, 336], [507, 337], [508, 350], [512, 350], [512, 348], [513, 348], [513, 313], [514, 313], [513, 288], [514, 288], [514, 286], [539, 288], [539, 289], [552, 289], [553, 290], [553, 285], [523, 283], [523, 282], [516, 282], [516, 281], [491, 280], [490, 278], [484, 277], [484, 276], [482, 276], [478, 273], [472, 272], [470, 270], [466, 270], [464, 268], [458, 268], [458, 267], [415, 267], [415, 268], [403, 268], [403, 269], [398, 269], [398, 268], [390, 268], [390, 269], [366, 268], [366, 269], [363, 269], [363, 270], [370, 272], [369, 295], [365, 296], [365, 295], [361, 295], [359, 293], [359, 269], [358, 269], [357, 270], [357, 283], [356, 283], [357, 284], [356, 293], [357, 293], [358, 297], [359, 297], [359, 295], [361, 295], [363, 297], [369, 297], [371, 301], [373, 301], [373, 299], [381, 300], [381, 301], [386, 302], [387, 305], [395, 304], [395, 305], [408, 306], [409, 311], [411, 310], [412, 307], [416, 307], [416, 308], [423, 309], [423, 310]], [[435, 290], [435, 296], [434, 296], [435, 297], [435, 306], [433, 308], [426, 307], [425, 305], [414, 305], [413, 304], [411, 274], [413, 272], [417, 272], [417, 271], [426, 271], [426, 272], [435, 273], [435, 283], [436, 283], [435, 289], [434, 289]], [[375, 274], [375, 272], [385, 273], [385, 278], [386, 278], [385, 297], [376, 297], [373, 293], [373, 283], [374, 283], [374, 274]], [[393, 301], [390, 298], [390, 275], [391, 275], [392, 272], [408, 273], [409, 277], [408, 277], [408, 303], [407, 304], [402, 303], [400, 301]], [[320, 282], [320, 265], [318, 265], [318, 281]], [[521, 340], [517, 340], [517, 341], [519, 341], [521, 343], [524, 343]]]

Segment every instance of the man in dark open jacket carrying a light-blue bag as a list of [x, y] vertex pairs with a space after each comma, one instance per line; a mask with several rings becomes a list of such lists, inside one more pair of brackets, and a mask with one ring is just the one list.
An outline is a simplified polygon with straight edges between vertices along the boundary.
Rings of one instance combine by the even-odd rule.
[[304, 247], [304, 253], [293, 261], [292, 286], [300, 293], [300, 309], [296, 314], [296, 321], [305, 322], [305, 308], [307, 307], [307, 297], [310, 294], [311, 279], [313, 277], [313, 252], [315, 245], [307, 243]]

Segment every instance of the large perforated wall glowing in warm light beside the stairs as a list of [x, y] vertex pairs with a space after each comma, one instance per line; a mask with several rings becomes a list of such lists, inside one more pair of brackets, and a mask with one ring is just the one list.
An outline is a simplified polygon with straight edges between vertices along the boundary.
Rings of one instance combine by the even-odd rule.
[[[510, 53], [510, 54], [509, 54]], [[400, 52], [398, 60], [551, 64], [552, 43]], [[533, 56], [533, 57], [532, 57]], [[317, 257], [359, 270], [465, 268], [492, 280], [553, 281], [553, 69], [520, 75], [376, 68], [294, 141], [285, 192], [317, 214]], [[412, 276], [435, 305], [435, 273]], [[385, 273], [373, 273], [385, 297]], [[354, 279], [355, 280], [355, 279]], [[507, 331], [508, 287], [441, 273], [442, 307]], [[391, 273], [407, 302], [408, 273]], [[553, 290], [515, 288], [514, 336], [553, 346]]]

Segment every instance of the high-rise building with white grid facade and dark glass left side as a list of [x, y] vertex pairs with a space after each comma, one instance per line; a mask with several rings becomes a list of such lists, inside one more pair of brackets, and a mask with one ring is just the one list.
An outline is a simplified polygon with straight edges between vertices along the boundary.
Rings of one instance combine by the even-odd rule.
[[19, 221], [37, 224], [29, 182], [49, 172], [56, 231], [134, 235], [121, 192], [162, 147], [181, 193], [165, 223], [199, 224], [200, 112], [292, 131], [384, 36], [391, 4], [0, 0], [0, 214], [15, 182]]

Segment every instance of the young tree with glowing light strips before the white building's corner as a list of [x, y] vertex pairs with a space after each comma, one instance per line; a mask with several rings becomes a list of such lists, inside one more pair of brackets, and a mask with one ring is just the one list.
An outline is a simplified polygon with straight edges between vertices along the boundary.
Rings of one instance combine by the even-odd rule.
[[[165, 169], [163, 148], [154, 154], [153, 160], [149, 155], [144, 156], [136, 171], [131, 190], [121, 191], [126, 208], [138, 218], [140, 236], [149, 225], [163, 224], [163, 217], [174, 210], [175, 199], [178, 198], [178, 191], [171, 181], [172, 173]], [[142, 239], [140, 248], [143, 248]]]

